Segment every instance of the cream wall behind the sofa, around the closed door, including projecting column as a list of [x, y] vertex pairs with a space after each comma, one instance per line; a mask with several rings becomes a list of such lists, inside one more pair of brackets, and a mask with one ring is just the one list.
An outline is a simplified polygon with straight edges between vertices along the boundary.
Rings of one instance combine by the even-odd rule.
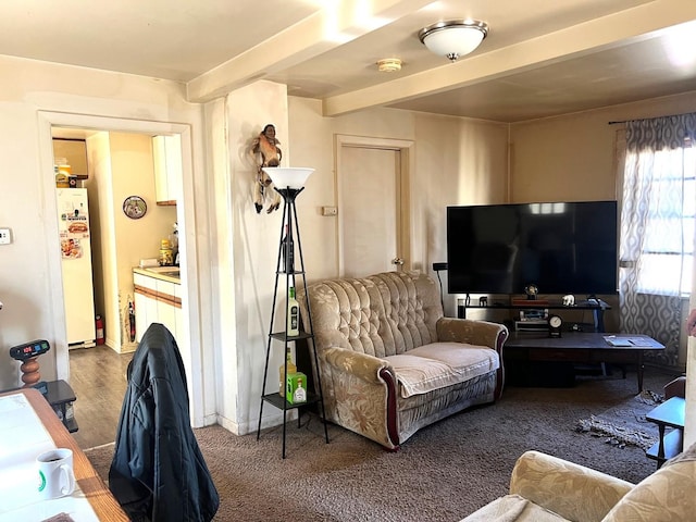
[[[215, 194], [215, 299], [221, 318], [217, 343], [224, 347], [215, 361], [219, 417], [227, 428], [244, 434], [254, 431], [259, 421], [282, 225], [281, 212], [257, 214], [252, 204], [254, 174], [247, 157], [251, 139], [266, 123], [273, 123], [283, 166], [315, 169], [297, 199], [304, 269], [312, 282], [338, 275], [337, 221], [321, 215], [323, 206], [336, 204], [337, 134], [418, 137], [415, 172], [410, 173], [412, 259], [414, 266], [431, 272], [433, 261], [446, 258], [447, 204], [505, 199], [507, 126], [390, 109], [327, 119], [321, 115], [320, 101], [288, 98], [285, 86], [268, 82], [231, 94], [225, 103], [209, 104], [207, 121], [215, 171], [211, 186]], [[220, 132], [221, 126], [226, 134]], [[272, 349], [271, 353], [269, 393], [275, 389], [282, 362], [281, 351]], [[281, 412], [264, 405], [262, 425], [281, 421]]]

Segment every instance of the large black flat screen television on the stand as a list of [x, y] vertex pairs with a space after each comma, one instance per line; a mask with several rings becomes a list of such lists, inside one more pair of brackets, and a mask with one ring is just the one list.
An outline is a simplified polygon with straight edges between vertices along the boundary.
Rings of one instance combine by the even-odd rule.
[[450, 294], [616, 294], [616, 201], [447, 208]]

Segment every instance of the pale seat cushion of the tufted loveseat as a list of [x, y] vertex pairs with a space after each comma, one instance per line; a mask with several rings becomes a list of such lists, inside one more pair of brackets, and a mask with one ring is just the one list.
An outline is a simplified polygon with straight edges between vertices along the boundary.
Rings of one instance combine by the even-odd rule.
[[432, 343], [384, 358], [401, 384], [401, 397], [426, 394], [495, 371], [498, 353], [462, 343]]

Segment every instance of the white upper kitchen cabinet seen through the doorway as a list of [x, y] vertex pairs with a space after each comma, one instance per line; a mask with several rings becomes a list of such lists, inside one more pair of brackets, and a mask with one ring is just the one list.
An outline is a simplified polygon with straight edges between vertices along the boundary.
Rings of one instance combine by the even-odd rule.
[[154, 136], [152, 138], [154, 162], [154, 192], [157, 204], [176, 204], [182, 198], [182, 138]]

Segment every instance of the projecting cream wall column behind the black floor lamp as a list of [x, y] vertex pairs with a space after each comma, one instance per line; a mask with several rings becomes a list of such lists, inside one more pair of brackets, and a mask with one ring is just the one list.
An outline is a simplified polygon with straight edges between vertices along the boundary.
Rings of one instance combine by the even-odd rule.
[[[282, 165], [290, 165], [286, 88], [259, 82], [229, 94], [224, 103], [209, 104], [207, 115], [215, 204], [211, 215], [215, 221], [216, 248], [211, 261], [220, 318], [215, 336], [222, 347], [216, 359], [217, 417], [232, 432], [249, 433], [259, 419], [282, 217], [282, 208], [271, 214], [265, 208], [256, 212], [256, 173], [249, 150], [262, 128], [274, 124]], [[224, 135], [220, 128], [225, 129]], [[275, 358], [273, 361], [271, 368], [277, 365]], [[275, 383], [275, 371], [272, 375]], [[277, 423], [278, 411], [272, 410], [266, 406], [270, 422]]]

